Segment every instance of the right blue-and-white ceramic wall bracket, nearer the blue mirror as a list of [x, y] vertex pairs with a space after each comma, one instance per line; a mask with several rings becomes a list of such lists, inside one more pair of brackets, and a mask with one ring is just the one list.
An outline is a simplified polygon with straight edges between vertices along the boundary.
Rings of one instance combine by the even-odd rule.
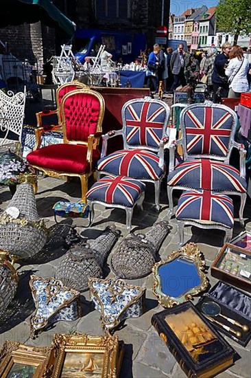
[[143, 313], [145, 288], [128, 285], [124, 280], [89, 278], [91, 300], [101, 312], [101, 324], [112, 329], [126, 318], [137, 318]]

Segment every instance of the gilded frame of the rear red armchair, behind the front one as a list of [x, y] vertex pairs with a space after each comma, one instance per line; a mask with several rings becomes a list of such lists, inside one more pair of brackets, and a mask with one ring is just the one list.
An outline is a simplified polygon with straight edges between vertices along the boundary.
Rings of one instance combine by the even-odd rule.
[[[61, 103], [59, 99], [59, 93], [62, 91], [62, 89], [66, 87], [70, 87], [71, 85], [75, 85], [76, 89], [85, 89], [88, 88], [86, 85], [84, 85], [82, 82], [79, 82], [77, 80], [66, 82], [65, 84], [60, 85], [56, 89], [56, 109], [54, 110], [48, 110], [46, 113], [44, 111], [39, 111], [36, 113], [36, 129], [35, 129], [35, 136], [36, 136], [36, 144], [35, 144], [35, 150], [38, 150], [40, 148], [42, 143], [42, 134], [49, 132], [49, 131], [61, 131], [62, 132], [62, 114], [60, 111]], [[51, 128], [49, 130], [45, 130], [43, 127], [43, 118], [49, 117], [51, 115], [57, 115], [58, 117], [58, 124], [52, 124]]]

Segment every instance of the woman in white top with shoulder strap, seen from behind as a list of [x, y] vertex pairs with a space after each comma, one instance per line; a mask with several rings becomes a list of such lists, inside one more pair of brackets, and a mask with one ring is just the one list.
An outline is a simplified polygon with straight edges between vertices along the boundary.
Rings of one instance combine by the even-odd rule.
[[242, 92], [248, 92], [248, 59], [243, 56], [243, 49], [240, 46], [233, 46], [229, 54], [229, 63], [226, 68], [228, 76], [229, 98], [239, 98]]

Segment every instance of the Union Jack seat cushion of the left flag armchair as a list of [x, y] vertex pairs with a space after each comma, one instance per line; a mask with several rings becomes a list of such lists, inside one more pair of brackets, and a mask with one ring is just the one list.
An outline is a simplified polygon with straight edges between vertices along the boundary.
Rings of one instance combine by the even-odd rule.
[[120, 150], [102, 157], [97, 162], [97, 170], [115, 176], [129, 176], [135, 179], [157, 181], [165, 174], [159, 166], [159, 157], [143, 148]]

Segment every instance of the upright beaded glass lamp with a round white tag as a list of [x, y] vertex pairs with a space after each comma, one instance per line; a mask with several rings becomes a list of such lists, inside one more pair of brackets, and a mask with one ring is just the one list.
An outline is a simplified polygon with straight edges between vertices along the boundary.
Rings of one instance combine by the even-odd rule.
[[32, 184], [18, 186], [8, 208], [0, 216], [0, 249], [27, 259], [36, 255], [47, 241], [47, 229], [38, 216]]

